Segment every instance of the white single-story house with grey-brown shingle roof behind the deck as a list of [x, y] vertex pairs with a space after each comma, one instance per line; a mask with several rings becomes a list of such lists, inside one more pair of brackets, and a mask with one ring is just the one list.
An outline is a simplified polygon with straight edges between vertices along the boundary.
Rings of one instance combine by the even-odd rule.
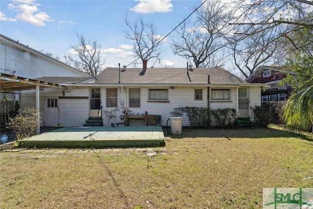
[[[261, 104], [262, 84], [249, 84], [223, 68], [107, 68], [94, 81], [63, 82], [63, 77], [41, 77], [67, 87], [45, 90], [45, 98], [59, 99], [62, 126], [82, 126], [89, 117], [102, 116], [104, 125], [122, 123], [125, 111], [159, 115], [166, 125], [170, 112], [183, 106], [234, 108], [238, 117], [250, 117], [250, 106]], [[44, 105], [44, 103], [43, 103]], [[102, 107], [102, 108], [101, 108]], [[109, 118], [107, 118], [108, 114]], [[51, 124], [52, 125], [52, 124]], [[183, 126], [189, 121], [183, 116]]]

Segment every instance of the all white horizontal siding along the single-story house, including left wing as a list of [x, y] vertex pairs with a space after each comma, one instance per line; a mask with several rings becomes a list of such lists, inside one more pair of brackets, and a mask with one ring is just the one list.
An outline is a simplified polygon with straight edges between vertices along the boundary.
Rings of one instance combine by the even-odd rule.
[[[112, 88], [112, 87], [110, 87]], [[138, 87], [132, 87], [138, 89]], [[106, 111], [115, 110], [116, 122], [122, 123], [123, 119], [120, 119], [120, 115], [123, 115], [124, 107], [129, 107], [129, 88], [126, 87], [126, 91], [118, 87], [117, 104], [118, 107], [107, 108], [106, 107], [106, 88], [101, 88], [101, 100], [102, 100], [102, 119], [104, 126], [110, 126], [111, 123], [115, 123], [115, 118], [110, 120], [106, 117]], [[149, 102], [148, 93], [149, 89], [168, 89], [168, 102]], [[195, 89], [202, 89], [202, 100], [195, 100]], [[216, 89], [216, 88], [214, 88]], [[228, 88], [231, 91], [231, 101], [216, 102], [210, 101], [210, 108], [234, 108], [237, 110], [237, 88]], [[211, 88], [210, 88], [211, 91]], [[27, 92], [27, 93], [26, 93]], [[21, 94], [21, 108], [35, 107], [36, 98], [34, 91], [26, 91]], [[126, 95], [126, 100], [125, 100]], [[60, 98], [61, 96], [61, 98]], [[45, 99], [48, 97], [59, 97], [59, 122], [61, 126], [83, 126], [85, 121], [89, 117], [89, 87], [79, 87], [71, 90], [70, 92], [65, 91], [63, 97], [62, 90], [56, 89], [45, 89], [40, 92], [40, 112], [42, 114], [42, 126], [44, 125], [45, 118]], [[78, 98], [85, 96], [88, 98]], [[73, 97], [73, 98], [69, 98]], [[260, 105], [260, 88], [250, 88], [250, 106]], [[123, 105], [120, 105], [120, 102]], [[158, 125], [166, 125], [167, 120], [171, 117], [170, 112], [177, 107], [207, 107], [207, 87], [140, 87], [140, 107], [129, 108], [133, 111], [134, 115], [142, 115], [147, 112], [149, 115], [160, 115], [162, 122]], [[250, 110], [250, 119], [253, 120], [253, 112]], [[141, 123], [137, 123], [140, 125]], [[212, 121], [214, 124], [214, 121]], [[168, 122], [170, 126], [170, 120]], [[190, 126], [188, 117], [184, 114], [182, 116], [182, 126]]]

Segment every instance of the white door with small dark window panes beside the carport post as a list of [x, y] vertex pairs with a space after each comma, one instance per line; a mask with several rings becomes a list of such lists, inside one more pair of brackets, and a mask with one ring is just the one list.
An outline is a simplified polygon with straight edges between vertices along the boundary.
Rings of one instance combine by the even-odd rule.
[[57, 127], [59, 122], [58, 98], [46, 98], [45, 100], [45, 126]]

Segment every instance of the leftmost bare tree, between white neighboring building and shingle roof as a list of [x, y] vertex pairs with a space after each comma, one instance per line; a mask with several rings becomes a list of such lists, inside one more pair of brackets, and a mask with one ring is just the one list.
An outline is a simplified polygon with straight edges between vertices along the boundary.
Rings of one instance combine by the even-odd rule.
[[105, 59], [101, 58], [101, 45], [97, 40], [86, 40], [84, 35], [76, 32], [78, 45], [70, 45], [74, 54], [79, 59], [75, 59], [71, 55], [64, 56], [66, 63], [72, 64], [76, 69], [81, 70], [91, 76], [96, 76], [105, 64]]

